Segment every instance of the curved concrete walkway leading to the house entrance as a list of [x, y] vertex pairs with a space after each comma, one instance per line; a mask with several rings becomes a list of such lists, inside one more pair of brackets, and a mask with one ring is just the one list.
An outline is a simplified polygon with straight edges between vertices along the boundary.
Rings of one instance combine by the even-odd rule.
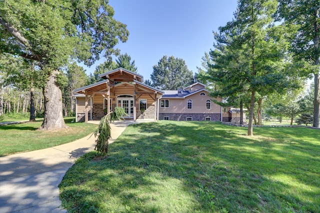
[[[110, 142], [129, 124], [138, 122], [112, 122]], [[58, 184], [77, 157], [94, 149], [95, 138], [90, 135], [51, 148], [0, 157], [0, 212], [66, 212], [60, 207]]]

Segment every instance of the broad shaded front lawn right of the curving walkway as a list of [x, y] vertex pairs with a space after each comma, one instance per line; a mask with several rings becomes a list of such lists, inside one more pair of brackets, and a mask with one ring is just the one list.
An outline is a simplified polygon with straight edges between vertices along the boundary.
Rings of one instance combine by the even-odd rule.
[[218, 122], [130, 125], [60, 183], [70, 212], [318, 212], [320, 130]]

